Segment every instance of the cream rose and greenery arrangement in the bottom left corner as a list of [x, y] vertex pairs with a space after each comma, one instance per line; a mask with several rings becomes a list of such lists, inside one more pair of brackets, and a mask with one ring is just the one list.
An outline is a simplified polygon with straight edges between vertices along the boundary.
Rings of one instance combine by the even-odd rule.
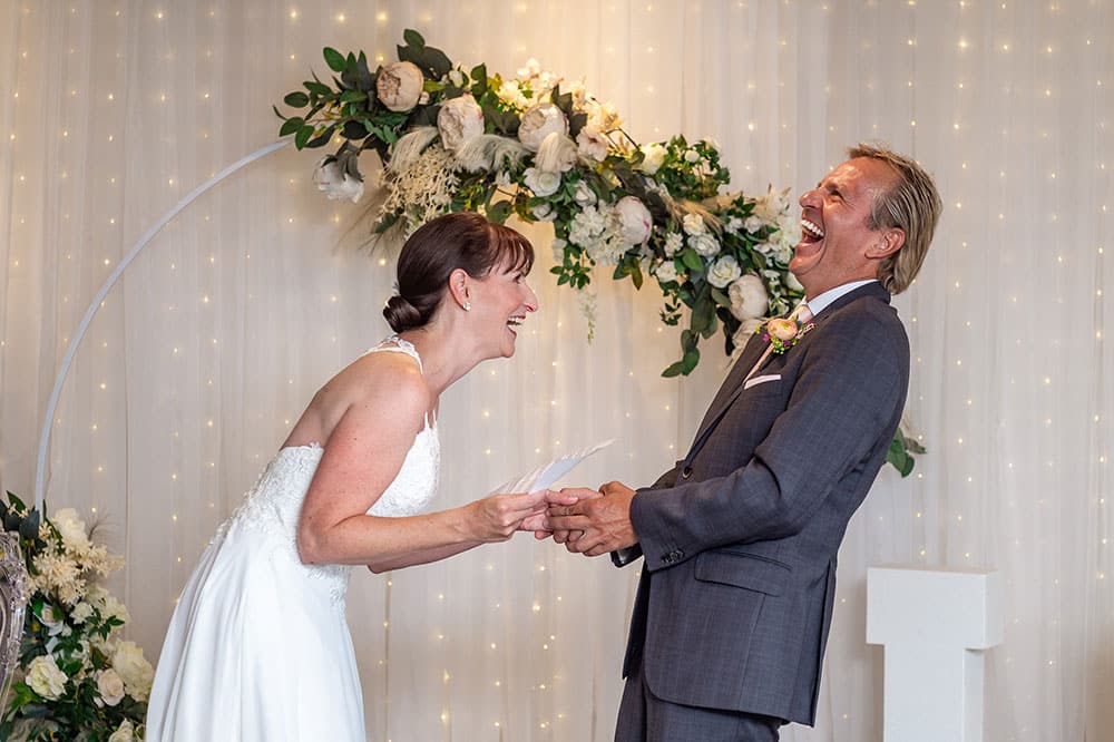
[[120, 640], [128, 611], [99, 584], [124, 559], [92, 543], [72, 508], [40, 521], [38, 510], [8, 492], [0, 517], [20, 535], [31, 577], [0, 739], [141, 740], [155, 671], [141, 648]]

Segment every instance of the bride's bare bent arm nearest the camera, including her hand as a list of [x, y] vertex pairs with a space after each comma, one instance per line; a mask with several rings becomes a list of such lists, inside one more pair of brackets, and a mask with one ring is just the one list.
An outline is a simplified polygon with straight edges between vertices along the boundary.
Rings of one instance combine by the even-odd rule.
[[545, 492], [496, 495], [408, 518], [364, 515], [398, 476], [431, 400], [417, 369], [360, 381], [359, 396], [330, 435], [302, 506], [302, 562], [364, 564], [375, 570], [432, 562], [507, 540], [544, 502]]

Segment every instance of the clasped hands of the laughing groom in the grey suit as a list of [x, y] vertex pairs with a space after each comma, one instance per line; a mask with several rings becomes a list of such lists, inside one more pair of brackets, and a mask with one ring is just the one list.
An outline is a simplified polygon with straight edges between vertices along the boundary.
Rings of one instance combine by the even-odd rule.
[[558, 533], [567, 533], [565, 548], [574, 554], [599, 556], [638, 543], [631, 523], [634, 490], [613, 481], [599, 491], [602, 497], [580, 499], [576, 505], [549, 506], [548, 525], [555, 540]]

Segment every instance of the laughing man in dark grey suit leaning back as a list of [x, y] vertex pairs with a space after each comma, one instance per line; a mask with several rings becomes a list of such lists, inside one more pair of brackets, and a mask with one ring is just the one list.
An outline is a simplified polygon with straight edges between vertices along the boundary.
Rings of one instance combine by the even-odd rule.
[[917, 275], [941, 203], [913, 160], [867, 145], [800, 203], [789, 267], [807, 300], [766, 333], [784, 351], [751, 339], [653, 486], [549, 508], [569, 551], [645, 557], [617, 741], [764, 742], [815, 720], [836, 556], [909, 382], [889, 300]]

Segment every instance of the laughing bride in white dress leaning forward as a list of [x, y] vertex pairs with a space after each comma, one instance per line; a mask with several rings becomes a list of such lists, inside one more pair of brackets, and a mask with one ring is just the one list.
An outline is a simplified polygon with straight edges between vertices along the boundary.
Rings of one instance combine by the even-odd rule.
[[149, 742], [362, 742], [351, 565], [398, 569], [541, 528], [545, 492], [420, 515], [438, 484], [438, 398], [480, 361], [514, 354], [538, 305], [532, 262], [525, 237], [477, 214], [441, 216], [407, 241], [383, 310], [398, 334], [314, 394], [187, 582]]

